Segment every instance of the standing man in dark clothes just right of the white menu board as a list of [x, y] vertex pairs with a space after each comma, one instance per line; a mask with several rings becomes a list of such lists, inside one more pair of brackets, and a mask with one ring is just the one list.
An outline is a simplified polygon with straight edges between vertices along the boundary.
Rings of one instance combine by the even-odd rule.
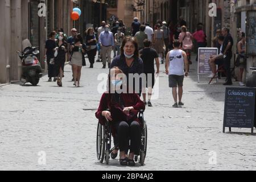
[[232, 59], [232, 47], [233, 47], [233, 38], [229, 33], [229, 28], [222, 28], [222, 35], [225, 36], [224, 43], [222, 46], [222, 52], [224, 55], [224, 67], [226, 70], [226, 82], [223, 85], [233, 85], [232, 76], [230, 71], [230, 63]]

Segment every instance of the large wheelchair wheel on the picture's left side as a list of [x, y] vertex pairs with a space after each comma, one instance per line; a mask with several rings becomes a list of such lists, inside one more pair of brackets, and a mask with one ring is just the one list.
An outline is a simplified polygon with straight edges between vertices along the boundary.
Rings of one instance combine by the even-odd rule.
[[106, 144], [106, 130], [105, 126], [102, 126], [100, 123], [98, 123], [98, 129], [97, 129], [97, 158], [100, 160], [100, 163], [104, 162], [105, 159], [105, 144]]

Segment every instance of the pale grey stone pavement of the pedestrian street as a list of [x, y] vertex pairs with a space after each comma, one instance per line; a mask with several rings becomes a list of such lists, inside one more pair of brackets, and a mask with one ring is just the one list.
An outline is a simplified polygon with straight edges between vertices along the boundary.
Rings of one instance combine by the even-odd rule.
[[[101, 63], [95, 67], [82, 68], [81, 88], [73, 87], [69, 65], [63, 88], [47, 82], [47, 76], [36, 87], [0, 87], [0, 170], [256, 169], [255, 135], [222, 133], [225, 87], [197, 84], [195, 62], [184, 81], [185, 106], [178, 109], [171, 107], [168, 76], [164, 65], [160, 67], [159, 99], [144, 113], [148, 125], [145, 166], [121, 167], [117, 159], [110, 160], [109, 166], [100, 164], [94, 116], [101, 98], [97, 76], [108, 69], [101, 69]], [[40, 163], [40, 151], [46, 154], [46, 165]]]

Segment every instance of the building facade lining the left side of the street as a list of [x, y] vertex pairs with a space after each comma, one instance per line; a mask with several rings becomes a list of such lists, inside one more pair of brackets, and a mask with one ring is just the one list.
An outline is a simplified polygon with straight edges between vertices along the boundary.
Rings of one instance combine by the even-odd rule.
[[[45, 16], [38, 12], [46, 5]], [[79, 20], [71, 19], [73, 7], [80, 7], [82, 16]], [[98, 10], [101, 7], [101, 18]], [[84, 32], [88, 24], [100, 24], [100, 19], [106, 19], [106, 4], [96, 0], [5, 0], [0, 1], [2, 28], [0, 29], [0, 83], [19, 81], [22, 75], [22, 64], [16, 53], [22, 49], [22, 40], [30, 39], [32, 46], [40, 47], [39, 61], [42, 68], [44, 46], [51, 31], [63, 28], [69, 35], [76, 27]]]

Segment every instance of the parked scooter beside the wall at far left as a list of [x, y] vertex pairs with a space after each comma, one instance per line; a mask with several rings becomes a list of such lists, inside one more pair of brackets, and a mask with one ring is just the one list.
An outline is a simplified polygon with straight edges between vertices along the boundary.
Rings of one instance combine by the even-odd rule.
[[39, 54], [39, 47], [32, 47], [28, 39], [22, 42], [23, 51], [17, 51], [22, 60], [22, 78], [26, 80], [24, 84], [30, 82], [33, 86], [38, 85], [43, 76], [42, 67], [36, 55]]

